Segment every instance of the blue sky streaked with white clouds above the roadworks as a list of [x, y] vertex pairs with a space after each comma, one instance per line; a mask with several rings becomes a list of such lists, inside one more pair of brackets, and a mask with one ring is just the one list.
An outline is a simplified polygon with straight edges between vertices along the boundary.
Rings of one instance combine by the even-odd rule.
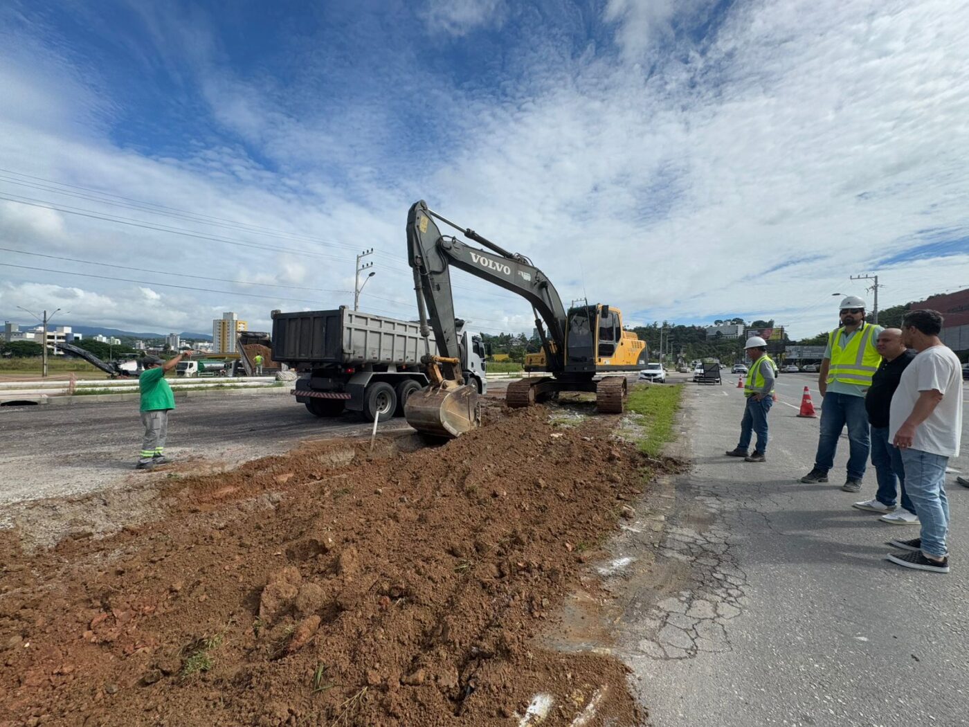
[[[412, 317], [418, 199], [627, 323], [810, 335], [853, 274], [883, 306], [969, 286], [964, 6], [309, 5], [0, 8], [0, 315], [265, 330], [351, 303], [373, 247], [361, 307]], [[530, 331], [454, 278], [463, 317]]]

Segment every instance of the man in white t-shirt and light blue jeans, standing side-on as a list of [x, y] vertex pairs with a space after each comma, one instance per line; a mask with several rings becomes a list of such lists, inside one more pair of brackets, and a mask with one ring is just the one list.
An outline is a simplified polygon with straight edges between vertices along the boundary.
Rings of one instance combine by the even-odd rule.
[[920, 537], [892, 540], [907, 553], [892, 563], [949, 573], [949, 501], [946, 465], [958, 457], [962, 434], [962, 364], [939, 340], [943, 318], [936, 310], [913, 310], [902, 319], [902, 339], [919, 352], [891, 397], [889, 439], [901, 450], [905, 489], [922, 522]]

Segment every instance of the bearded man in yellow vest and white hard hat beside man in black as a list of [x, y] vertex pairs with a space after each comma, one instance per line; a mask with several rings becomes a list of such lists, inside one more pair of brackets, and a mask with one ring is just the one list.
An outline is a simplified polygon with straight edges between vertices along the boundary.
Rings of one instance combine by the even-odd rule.
[[864, 395], [882, 356], [876, 344], [881, 326], [864, 321], [865, 302], [856, 296], [841, 300], [841, 326], [828, 333], [828, 347], [818, 389], [821, 390], [821, 435], [814, 467], [800, 478], [804, 483], [828, 482], [828, 470], [834, 466], [834, 453], [841, 431], [848, 427], [848, 477], [841, 486], [846, 492], [860, 492], [868, 459], [868, 415]]

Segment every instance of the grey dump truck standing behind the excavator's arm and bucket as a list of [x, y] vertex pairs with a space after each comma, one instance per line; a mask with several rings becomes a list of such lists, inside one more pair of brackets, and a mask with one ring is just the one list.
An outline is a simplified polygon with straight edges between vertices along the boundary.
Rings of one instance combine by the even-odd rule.
[[[459, 324], [461, 369], [487, 391], [485, 344]], [[357, 411], [372, 422], [403, 416], [404, 402], [429, 383], [422, 357], [435, 354], [421, 325], [341, 305], [334, 310], [272, 311], [272, 360], [299, 374], [293, 394], [318, 417]]]

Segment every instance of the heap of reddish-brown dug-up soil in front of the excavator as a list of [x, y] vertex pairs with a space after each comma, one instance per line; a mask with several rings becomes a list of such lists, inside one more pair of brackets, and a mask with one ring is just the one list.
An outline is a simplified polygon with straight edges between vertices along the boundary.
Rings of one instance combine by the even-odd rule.
[[543, 725], [641, 724], [621, 664], [533, 641], [641, 455], [614, 417], [486, 416], [443, 447], [173, 472], [166, 517], [104, 539], [8, 533], [0, 725], [533, 725], [538, 693]]

